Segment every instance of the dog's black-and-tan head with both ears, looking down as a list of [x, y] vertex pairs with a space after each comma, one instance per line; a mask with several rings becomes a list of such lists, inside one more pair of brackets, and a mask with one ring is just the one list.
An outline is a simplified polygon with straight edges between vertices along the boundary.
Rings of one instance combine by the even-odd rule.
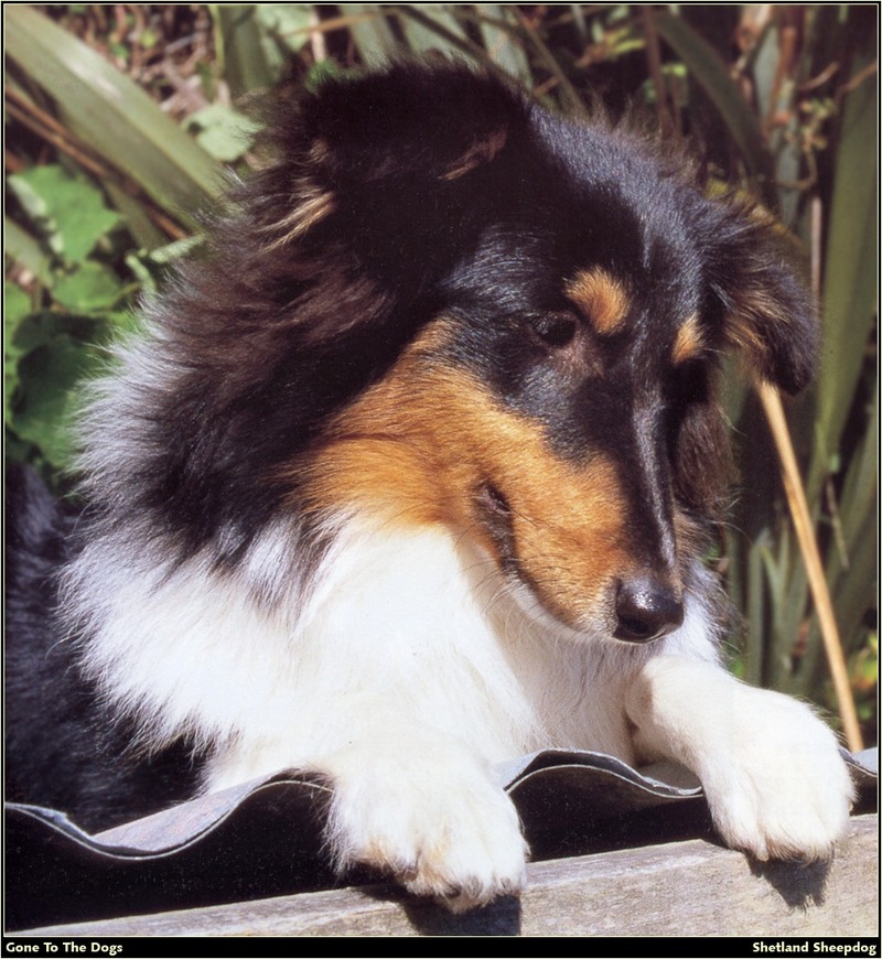
[[300, 284], [284, 368], [322, 399], [278, 400], [304, 439], [275, 475], [318, 511], [473, 536], [579, 633], [676, 628], [725, 482], [721, 353], [788, 391], [810, 375], [774, 226], [679, 151], [464, 67], [326, 83], [291, 126], [251, 215]]

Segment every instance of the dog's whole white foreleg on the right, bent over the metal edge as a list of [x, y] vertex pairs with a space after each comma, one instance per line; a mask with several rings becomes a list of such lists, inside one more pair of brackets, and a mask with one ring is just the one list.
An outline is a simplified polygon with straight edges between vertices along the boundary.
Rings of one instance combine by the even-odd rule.
[[638, 753], [696, 773], [731, 847], [761, 860], [830, 856], [853, 787], [836, 736], [809, 707], [662, 654], [635, 678], [626, 709]]

